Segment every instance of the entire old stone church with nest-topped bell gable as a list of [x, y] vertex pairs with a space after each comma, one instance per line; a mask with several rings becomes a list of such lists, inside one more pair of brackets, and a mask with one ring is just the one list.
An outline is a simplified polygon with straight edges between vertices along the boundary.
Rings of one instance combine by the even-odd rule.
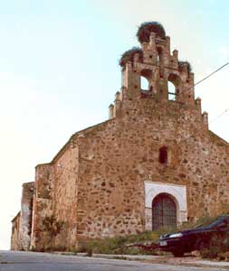
[[190, 64], [161, 24], [137, 36], [110, 119], [72, 135], [24, 183], [12, 249], [70, 249], [227, 211], [229, 145], [208, 129]]

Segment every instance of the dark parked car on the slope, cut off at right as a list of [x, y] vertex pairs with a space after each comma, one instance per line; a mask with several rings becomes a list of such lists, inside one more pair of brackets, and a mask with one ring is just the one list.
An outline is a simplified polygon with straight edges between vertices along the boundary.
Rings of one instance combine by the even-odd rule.
[[227, 235], [229, 236], [229, 215], [224, 215], [194, 229], [162, 235], [159, 248], [172, 252], [175, 257], [182, 257], [186, 252], [208, 248], [215, 239], [223, 242]]

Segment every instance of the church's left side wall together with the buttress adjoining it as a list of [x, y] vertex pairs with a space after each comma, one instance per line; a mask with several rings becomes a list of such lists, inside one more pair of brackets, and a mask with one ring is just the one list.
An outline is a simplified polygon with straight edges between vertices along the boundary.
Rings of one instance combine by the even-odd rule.
[[78, 147], [66, 145], [51, 164], [36, 167], [31, 248], [77, 246]]

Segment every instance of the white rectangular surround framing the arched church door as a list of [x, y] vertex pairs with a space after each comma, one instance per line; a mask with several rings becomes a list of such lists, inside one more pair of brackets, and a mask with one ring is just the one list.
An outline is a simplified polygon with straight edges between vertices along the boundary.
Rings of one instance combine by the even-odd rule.
[[186, 185], [145, 181], [146, 230], [152, 230], [152, 202], [161, 193], [169, 194], [177, 205], [177, 224], [186, 221]]

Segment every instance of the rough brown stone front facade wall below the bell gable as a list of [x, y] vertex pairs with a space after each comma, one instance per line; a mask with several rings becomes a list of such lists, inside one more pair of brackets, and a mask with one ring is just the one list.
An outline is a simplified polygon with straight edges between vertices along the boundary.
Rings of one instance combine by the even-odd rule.
[[79, 152], [79, 238], [145, 230], [146, 181], [185, 185], [189, 219], [228, 207], [228, 145], [208, 131], [198, 105], [129, 101], [122, 117], [79, 138]]

